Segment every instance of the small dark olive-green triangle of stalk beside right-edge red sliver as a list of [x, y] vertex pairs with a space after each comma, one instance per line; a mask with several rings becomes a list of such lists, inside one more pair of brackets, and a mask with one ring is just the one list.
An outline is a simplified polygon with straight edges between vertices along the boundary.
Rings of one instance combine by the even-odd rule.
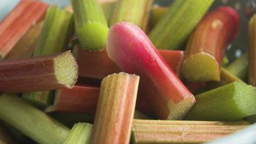
[[226, 67], [231, 74], [237, 76], [239, 79], [243, 81], [247, 81], [248, 76], [248, 61], [249, 61], [249, 53], [244, 53], [240, 58], [237, 58], [236, 61]]

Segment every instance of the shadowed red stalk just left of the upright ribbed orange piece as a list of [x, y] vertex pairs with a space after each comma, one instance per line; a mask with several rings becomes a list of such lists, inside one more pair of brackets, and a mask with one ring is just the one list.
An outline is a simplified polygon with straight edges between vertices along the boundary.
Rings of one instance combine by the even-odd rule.
[[75, 85], [72, 89], [56, 91], [54, 104], [45, 112], [95, 113], [100, 88]]

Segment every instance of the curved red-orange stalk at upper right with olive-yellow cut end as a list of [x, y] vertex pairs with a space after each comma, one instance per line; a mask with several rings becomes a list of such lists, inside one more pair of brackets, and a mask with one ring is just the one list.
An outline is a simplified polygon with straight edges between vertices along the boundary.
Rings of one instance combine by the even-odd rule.
[[220, 81], [226, 47], [238, 32], [239, 15], [230, 7], [207, 14], [190, 36], [182, 68], [187, 81]]

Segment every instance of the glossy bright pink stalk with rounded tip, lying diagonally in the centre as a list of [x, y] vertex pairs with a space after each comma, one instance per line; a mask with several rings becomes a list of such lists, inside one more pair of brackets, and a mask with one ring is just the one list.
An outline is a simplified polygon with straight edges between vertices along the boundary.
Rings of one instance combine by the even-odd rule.
[[107, 53], [123, 71], [141, 77], [139, 95], [160, 119], [182, 119], [195, 103], [147, 35], [132, 23], [119, 22], [110, 29]]

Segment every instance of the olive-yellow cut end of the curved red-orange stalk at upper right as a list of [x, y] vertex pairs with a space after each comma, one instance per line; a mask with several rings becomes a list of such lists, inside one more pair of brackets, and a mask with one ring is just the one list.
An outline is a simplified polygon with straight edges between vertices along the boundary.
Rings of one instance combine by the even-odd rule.
[[187, 81], [220, 81], [220, 70], [216, 59], [206, 52], [200, 52], [185, 59], [182, 75]]

